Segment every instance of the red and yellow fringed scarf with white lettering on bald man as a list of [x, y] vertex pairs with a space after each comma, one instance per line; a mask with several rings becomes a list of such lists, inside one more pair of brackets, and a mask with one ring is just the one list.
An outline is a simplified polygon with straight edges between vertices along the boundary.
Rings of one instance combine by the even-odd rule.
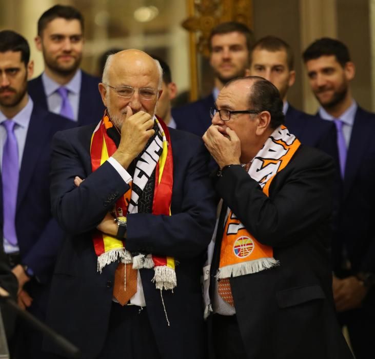
[[[173, 157], [170, 136], [167, 126], [160, 119], [154, 118], [159, 133], [144, 149], [140, 159], [135, 164], [133, 182], [130, 189], [117, 200], [114, 216], [126, 216], [127, 213], [137, 213], [139, 195], [132, 191], [132, 186], [144, 189], [152, 172], [155, 170], [154, 196], [152, 203], [153, 214], [170, 215], [173, 187]], [[96, 126], [91, 137], [91, 167], [95, 171], [116, 151], [113, 139], [108, 135], [110, 131], [117, 131], [107, 112], [102, 121]], [[143, 175], [138, 175], [142, 171]], [[134, 269], [154, 268], [153, 282], [156, 289], [173, 289], [176, 284], [175, 261], [173, 257], [155, 256], [141, 253], [136, 256], [126, 250], [125, 242], [113, 236], [96, 230], [93, 235], [93, 245], [97, 255], [97, 270], [102, 273], [103, 268], [117, 260], [122, 263], [133, 263]]]

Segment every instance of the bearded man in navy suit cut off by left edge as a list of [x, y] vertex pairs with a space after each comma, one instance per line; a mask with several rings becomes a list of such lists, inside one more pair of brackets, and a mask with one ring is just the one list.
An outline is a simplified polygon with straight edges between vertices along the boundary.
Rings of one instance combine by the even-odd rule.
[[[13, 31], [0, 32], [0, 221], [8, 265], [18, 281], [18, 304], [44, 320], [63, 231], [50, 210], [50, 144], [72, 123], [33, 103], [30, 49]], [[19, 323], [11, 350], [17, 358], [43, 357], [41, 334]]]

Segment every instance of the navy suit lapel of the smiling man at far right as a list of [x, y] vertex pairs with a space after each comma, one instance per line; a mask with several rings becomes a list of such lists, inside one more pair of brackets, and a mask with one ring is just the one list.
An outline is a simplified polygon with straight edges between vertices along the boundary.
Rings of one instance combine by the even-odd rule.
[[351, 131], [350, 143], [346, 156], [344, 198], [353, 185], [358, 168], [362, 163], [362, 157], [366, 152], [366, 148], [368, 147], [370, 135], [372, 135], [372, 133], [368, 131], [368, 129], [371, 127], [368, 126], [367, 122], [368, 118], [363, 110], [359, 107], [356, 112], [356, 117], [354, 117], [354, 124]]

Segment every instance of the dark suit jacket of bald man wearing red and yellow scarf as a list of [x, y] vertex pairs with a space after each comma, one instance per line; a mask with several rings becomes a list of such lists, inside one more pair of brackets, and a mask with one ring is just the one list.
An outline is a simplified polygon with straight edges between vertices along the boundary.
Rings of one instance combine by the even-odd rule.
[[[95, 126], [56, 134], [52, 160], [52, 211], [69, 233], [55, 268], [48, 324], [76, 344], [85, 357], [101, 351], [112, 306], [117, 263], [97, 272], [91, 233], [129, 188], [119, 173], [104, 163], [91, 172], [90, 139]], [[170, 129], [173, 151], [171, 216], [148, 213], [127, 216], [126, 248], [169, 255], [176, 266], [177, 287], [160, 291], [151, 282], [153, 270], [141, 269], [147, 312], [162, 357], [204, 358], [200, 274], [202, 253], [215, 222], [214, 192], [207, 174], [208, 152], [200, 138]], [[75, 188], [75, 176], [85, 178]], [[58, 352], [51, 343], [46, 349]], [[119, 353], [120, 355], [120, 353]]]

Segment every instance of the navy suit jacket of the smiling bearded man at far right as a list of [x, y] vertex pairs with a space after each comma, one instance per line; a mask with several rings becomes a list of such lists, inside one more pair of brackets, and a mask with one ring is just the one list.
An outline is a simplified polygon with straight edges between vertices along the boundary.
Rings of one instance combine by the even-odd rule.
[[375, 114], [358, 107], [346, 157], [339, 224], [332, 248], [334, 270], [338, 275], [343, 274], [343, 244], [351, 263], [351, 273], [375, 273], [374, 133]]

